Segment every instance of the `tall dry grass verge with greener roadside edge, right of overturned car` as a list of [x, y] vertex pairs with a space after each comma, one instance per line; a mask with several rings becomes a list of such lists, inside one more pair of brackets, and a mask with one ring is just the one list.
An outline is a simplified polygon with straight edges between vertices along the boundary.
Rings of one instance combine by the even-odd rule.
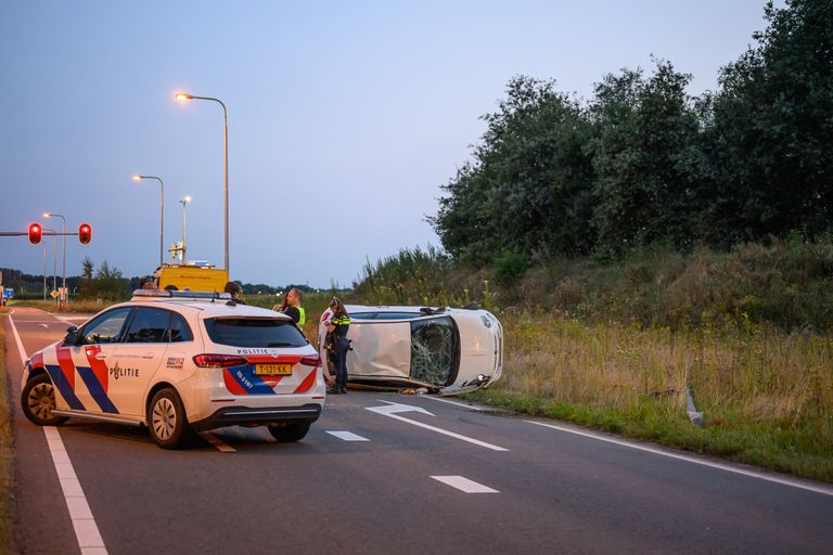
[[[466, 396], [833, 482], [833, 338], [503, 318], [504, 375]], [[706, 425], [687, 417], [685, 385]]]

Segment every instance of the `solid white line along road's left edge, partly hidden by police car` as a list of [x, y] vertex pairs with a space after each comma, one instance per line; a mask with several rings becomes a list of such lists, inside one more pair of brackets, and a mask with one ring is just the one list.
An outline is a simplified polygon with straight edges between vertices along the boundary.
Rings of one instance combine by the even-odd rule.
[[[21, 362], [26, 365], [26, 350], [23, 348], [21, 334], [17, 333], [17, 326], [14, 320], [9, 317], [9, 323], [12, 325], [14, 340], [17, 344], [17, 351], [21, 354]], [[25, 370], [25, 369], [24, 369]], [[81, 555], [106, 555], [107, 550], [104, 546], [104, 540], [101, 538], [99, 527], [95, 525], [95, 518], [92, 516], [90, 505], [81, 489], [81, 483], [75, 475], [75, 468], [69, 461], [69, 455], [61, 439], [61, 434], [54, 426], [43, 426], [43, 435], [47, 438], [49, 453], [52, 455], [52, 464], [55, 474], [61, 482], [61, 489], [64, 492], [64, 502], [69, 513], [69, 519], [73, 521], [75, 538], [78, 540], [78, 548]]]

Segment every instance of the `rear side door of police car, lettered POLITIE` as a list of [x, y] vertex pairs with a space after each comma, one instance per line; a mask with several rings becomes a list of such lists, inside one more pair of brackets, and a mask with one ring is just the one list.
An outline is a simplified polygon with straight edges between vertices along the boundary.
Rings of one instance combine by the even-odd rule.
[[168, 349], [174, 312], [137, 307], [110, 365], [113, 401], [129, 416], [144, 413], [144, 391]]

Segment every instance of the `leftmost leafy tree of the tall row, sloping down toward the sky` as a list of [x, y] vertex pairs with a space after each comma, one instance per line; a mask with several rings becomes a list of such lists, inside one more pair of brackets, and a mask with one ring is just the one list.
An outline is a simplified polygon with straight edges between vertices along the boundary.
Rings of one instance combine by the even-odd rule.
[[552, 81], [516, 77], [499, 111], [483, 117], [487, 131], [443, 189], [430, 221], [448, 251], [486, 263], [504, 249], [585, 254], [592, 248], [590, 121], [580, 103]]

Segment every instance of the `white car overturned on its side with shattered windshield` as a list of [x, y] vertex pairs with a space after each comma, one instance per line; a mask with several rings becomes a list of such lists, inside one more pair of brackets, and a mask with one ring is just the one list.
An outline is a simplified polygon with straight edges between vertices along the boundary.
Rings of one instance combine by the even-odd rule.
[[[503, 327], [486, 310], [361, 305], [346, 309], [349, 384], [425, 387], [445, 396], [486, 387], [500, 377]], [[324, 311], [318, 328], [319, 351], [328, 361], [325, 322], [331, 317], [330, 310]], [[330, 376], [335, 375], [332, 362], [328, 367]]]

